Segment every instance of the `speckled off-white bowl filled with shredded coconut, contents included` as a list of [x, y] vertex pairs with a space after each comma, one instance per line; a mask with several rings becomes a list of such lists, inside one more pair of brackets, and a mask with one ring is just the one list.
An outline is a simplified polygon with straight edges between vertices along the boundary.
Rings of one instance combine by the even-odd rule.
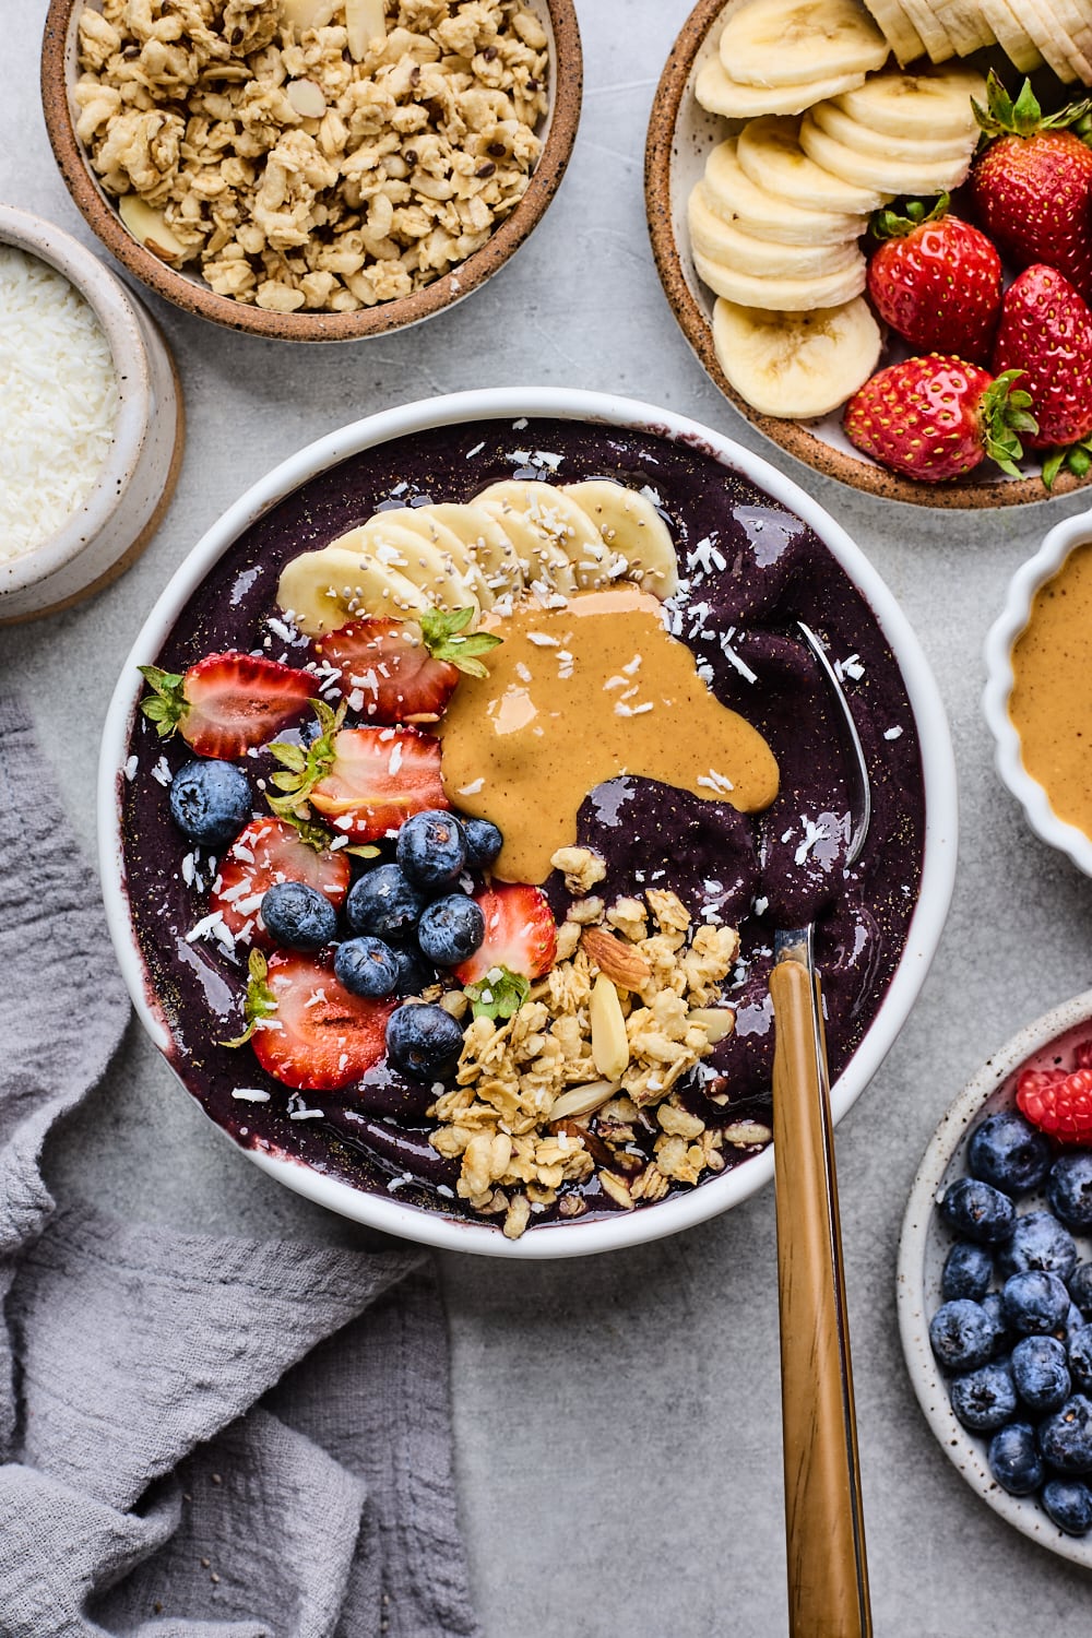
[[167, 347], [82, 244], [0, 205], [0, 624], [88, 596], [167, 506], [182, 406]]

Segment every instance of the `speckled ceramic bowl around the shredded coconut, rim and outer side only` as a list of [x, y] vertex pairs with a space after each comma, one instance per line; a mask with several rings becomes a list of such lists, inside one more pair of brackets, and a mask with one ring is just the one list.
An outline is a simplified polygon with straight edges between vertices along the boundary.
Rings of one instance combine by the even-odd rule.
[[56, 267], [88, 301], [110, 344], [120, 393], [113, 446], [83, 505], [39, 545], [0, 562], [0, 624], [8, 624], [90, 596], [139, 555], [174, 491], [183, 411], [159, 329], [97, 256], [8, 205], [0, 205], [0, 242]]

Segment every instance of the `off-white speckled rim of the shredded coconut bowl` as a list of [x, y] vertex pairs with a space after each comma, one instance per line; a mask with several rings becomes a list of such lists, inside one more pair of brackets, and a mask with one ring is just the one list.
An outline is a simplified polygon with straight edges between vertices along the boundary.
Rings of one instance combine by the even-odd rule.
[[0, 203], [0, 244], [38, 257], [69, 280], [98, 319], [118, 377], [118, 413], [106, 459], [83, 501], [59, 529], [0, 563], [0, 614], [10, 593], [26, 591], [65, 568], [102, 534], [121, 503], [144, 447], [149, 369], [133, 298], [121, 280], [79, 239], [44, 216]]

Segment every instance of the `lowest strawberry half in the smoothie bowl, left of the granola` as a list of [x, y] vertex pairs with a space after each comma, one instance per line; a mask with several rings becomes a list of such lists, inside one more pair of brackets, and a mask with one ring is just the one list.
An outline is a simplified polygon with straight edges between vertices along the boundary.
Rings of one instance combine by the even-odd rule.
[[268, 963], [260, 955], [250, 963], [249, 1038], [262, 1068], [278, 1081], [334, 1093], [380, 1061], [398, 1002], [352, 996], [323, 957], [278, 950]]

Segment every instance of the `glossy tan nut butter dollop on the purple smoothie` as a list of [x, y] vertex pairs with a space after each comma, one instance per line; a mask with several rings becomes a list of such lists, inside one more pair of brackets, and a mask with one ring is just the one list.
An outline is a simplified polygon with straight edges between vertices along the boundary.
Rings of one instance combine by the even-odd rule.
[[586, 591], [557, 609], [527, 601], [483, 626], [504, 639], [490, 675], [460, 680], [437, 732], [452, 806], [501, 827], [503, 881], [545, 881], [550, 857], [576, 840], [583, 799], [620, 773], [740, 812], [778, 794], [769, 745], [712, 696], [648, 593]]

